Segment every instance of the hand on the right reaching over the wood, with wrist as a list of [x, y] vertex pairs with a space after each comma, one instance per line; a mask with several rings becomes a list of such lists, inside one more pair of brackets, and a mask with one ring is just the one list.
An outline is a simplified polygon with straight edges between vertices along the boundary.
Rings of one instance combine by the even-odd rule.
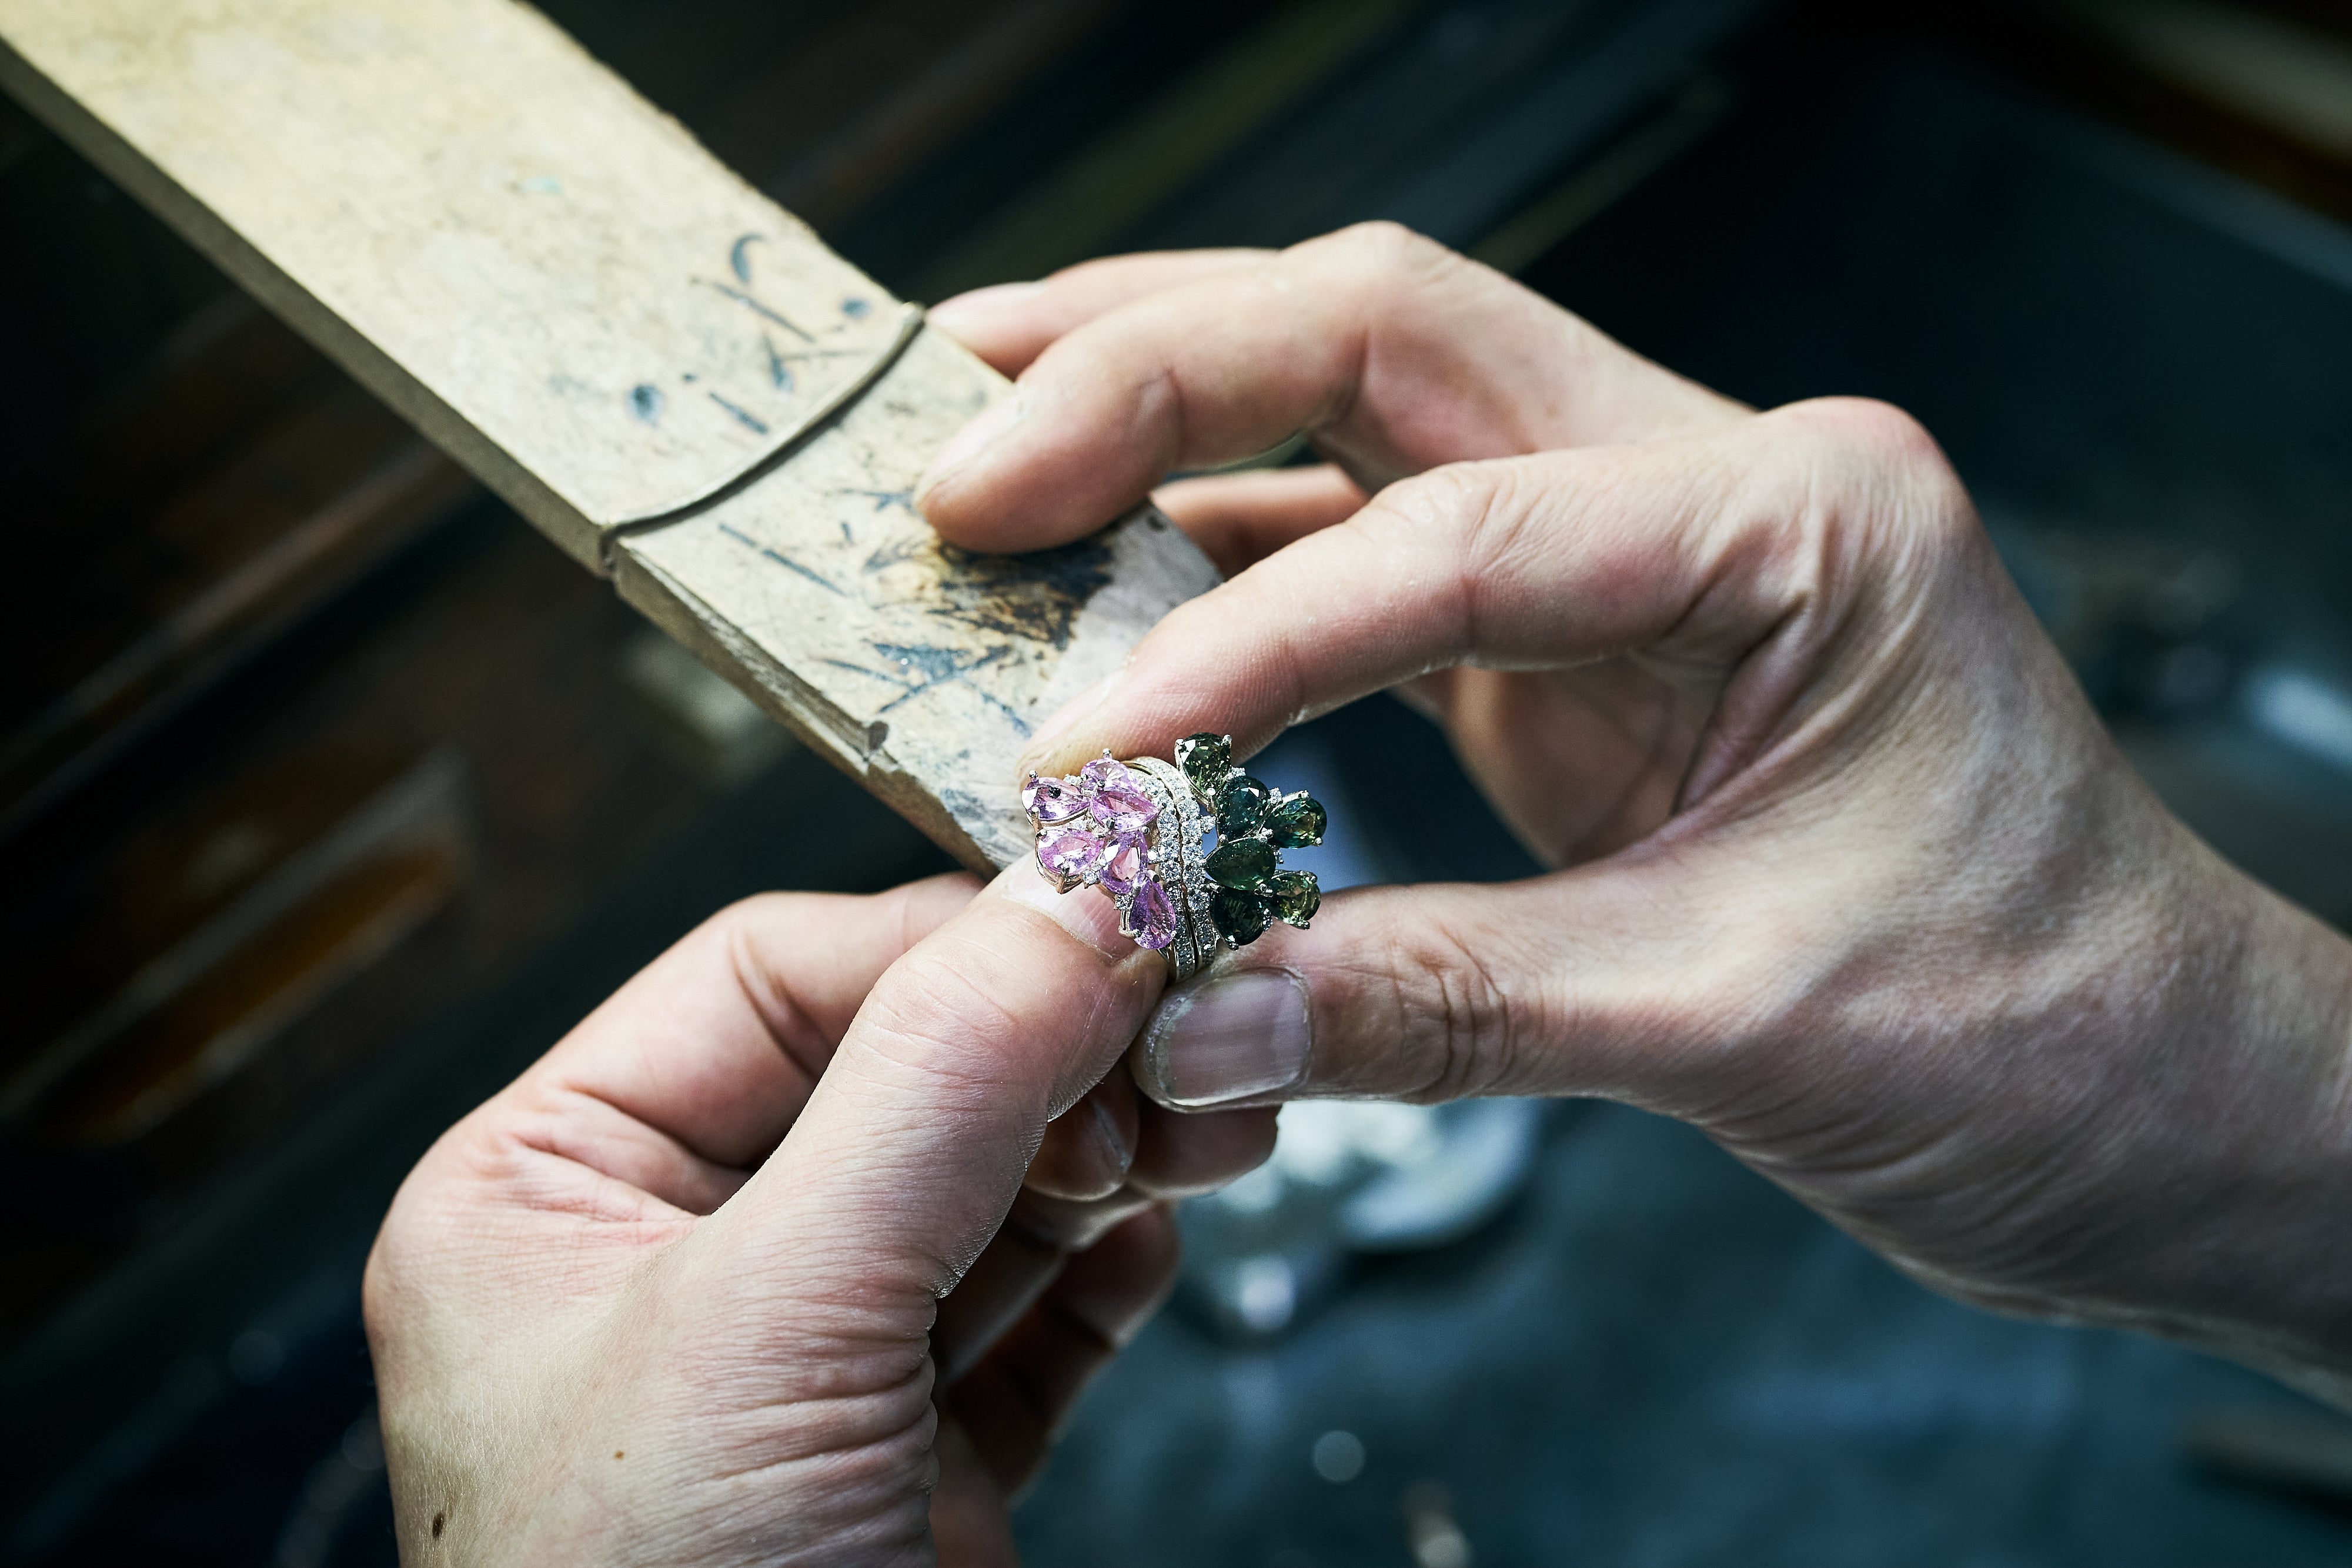
[[1230, 581], [1028, 766], [1395, 686], [1557, 867], [1327, 898], [1160, 1004], [1152, 1095], [1618, 1098], [1962, 1298], [2352, 1371], [2352, 950], [2140, 785], [1907, 416], [1383, 226], [934, 320], [1021, 376], [920, 494], [957, 543], [1334, 458], [1160, 491]]

